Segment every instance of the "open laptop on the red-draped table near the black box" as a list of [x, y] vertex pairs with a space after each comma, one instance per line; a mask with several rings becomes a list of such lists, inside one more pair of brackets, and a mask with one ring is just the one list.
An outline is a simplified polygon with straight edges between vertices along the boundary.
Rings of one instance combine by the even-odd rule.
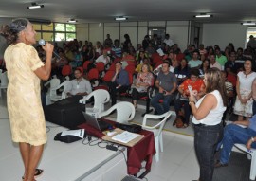
[[105, 131], [105, 130], [108, 130], [110, 127], [112, 127], [111, 124], [109, 124], [105, 121], [98, 120], [97, 118], [94, 118], [94, 117], [86, 114], [85, 112], [82, 112], [82, 115], [85, 118], [86, 123], [89, 124], [90, 126], [96, 128], [97, 130]]

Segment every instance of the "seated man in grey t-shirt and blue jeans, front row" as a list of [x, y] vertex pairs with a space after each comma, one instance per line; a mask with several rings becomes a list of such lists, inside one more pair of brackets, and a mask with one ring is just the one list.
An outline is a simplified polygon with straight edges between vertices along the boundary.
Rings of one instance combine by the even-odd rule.
[[[171, 100], [177, 87], [177, 80], [174, 73], [170, 72], [171, 64], [165, 61], [162, 64], [162, 69], [155, 81], [155, 87], [158, 88], [158, 93], [151, 100], [151, 105], [155, 108], [158, 115], [164, 114], [170, 109]], [[163, 100], [163, 103], [159, 103]]]

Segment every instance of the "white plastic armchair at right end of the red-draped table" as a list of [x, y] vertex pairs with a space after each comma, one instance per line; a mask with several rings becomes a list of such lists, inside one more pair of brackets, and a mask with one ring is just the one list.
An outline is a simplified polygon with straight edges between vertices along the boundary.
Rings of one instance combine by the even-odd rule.
[[[151, 115], [151, 114], [146, 114], [143, 118], [142, 122], [142, 128], [145, 130], [152, 131], [155, 136], [155, 161], [159, 161], [159, 147], [160, 151], [163, 152], [163, 135], [162, 135], [162, 130], [165, 125], [165, 122], [167, 118], [169, 118], [172, 115], [172, 111], [168, 111], [162, 115]], [[164, 118], [160, 122], [158, 122], [155, 126], [148, 126], [147, 125], [147, 119], [152, 118], [152, 119], [160, 119]], [[158, 128], [158, 129], [157, 129]]]

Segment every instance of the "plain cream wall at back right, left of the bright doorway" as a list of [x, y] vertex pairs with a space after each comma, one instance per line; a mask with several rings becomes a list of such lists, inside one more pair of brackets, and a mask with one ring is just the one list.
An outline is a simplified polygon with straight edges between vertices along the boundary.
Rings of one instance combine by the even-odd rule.
[[219, 45], [224, 50], [229, 43], [235, 48], [245, 47], [247, 27], [240, 24], [204, 24], [203, 40], [205, 46]]

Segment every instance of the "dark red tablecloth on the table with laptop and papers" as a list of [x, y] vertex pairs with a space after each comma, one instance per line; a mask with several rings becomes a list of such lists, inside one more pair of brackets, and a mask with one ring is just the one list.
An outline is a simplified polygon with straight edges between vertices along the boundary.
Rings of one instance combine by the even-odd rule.
[[[115, 126], [115, 122], [111, 120], [105, 121]], [[96, 136], [101, 138], [104, 134], [101, 131], [83, 123], [79, 125], [79, 128], [85, 129], [86, 133], [90, 136]], [[155, 140], [153, 132], [142, 130], [139, 134], [144, 135], [137, 144], [133, 147], [127, 147], [127, 167], [128, 174], [137, 174], [141, 169], [142, 161], [146, 161], [145, 169], [150, 172], [153, 155], [155, 154]]]

